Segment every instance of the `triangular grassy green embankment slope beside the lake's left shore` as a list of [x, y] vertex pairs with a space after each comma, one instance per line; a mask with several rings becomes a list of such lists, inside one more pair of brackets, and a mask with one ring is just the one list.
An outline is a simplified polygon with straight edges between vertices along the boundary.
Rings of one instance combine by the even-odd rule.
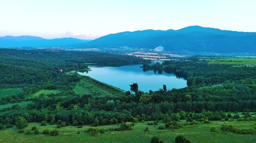
[[77, 94], [91, 94], [93, 96], [119, 96], [125, 95], [123, 91], [115, 89], [114, 87], [105, 85], [101, 82], [94, 81], [91, 78], [82, 76], [81, 80], [75, 85], [73, 91]]

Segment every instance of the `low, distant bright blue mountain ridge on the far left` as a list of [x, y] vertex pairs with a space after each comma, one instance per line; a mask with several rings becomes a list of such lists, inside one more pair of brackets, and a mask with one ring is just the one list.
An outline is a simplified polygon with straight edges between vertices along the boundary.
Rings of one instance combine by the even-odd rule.
[[0, 37], [0, 47], [47, 47], [64, 46], [70, 44], [84, 43], [91, 40], [81, 40], [76, 38], [56, 38], [44, 39], [34, 36], [5, 36]]

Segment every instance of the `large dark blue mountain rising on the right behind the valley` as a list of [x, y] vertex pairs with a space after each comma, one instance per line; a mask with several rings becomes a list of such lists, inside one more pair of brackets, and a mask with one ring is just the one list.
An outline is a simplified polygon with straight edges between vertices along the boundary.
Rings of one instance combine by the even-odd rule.
[[186, 50], [192, 52], [256, 52], [256, 32], [225, 31], [201, 26], [189, 26], [180, 30], [144, 30], [120, 32], [97, 38], [77, 48], [151, 48]]

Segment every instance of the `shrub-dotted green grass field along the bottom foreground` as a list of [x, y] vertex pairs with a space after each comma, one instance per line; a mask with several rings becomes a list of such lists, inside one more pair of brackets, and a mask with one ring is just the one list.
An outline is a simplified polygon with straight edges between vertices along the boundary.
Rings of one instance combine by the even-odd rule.
[[[255, 121], [248, 122], [226, 122], [228, 125], [232, 124], [235, 127], [243, 129], [253, 129], [252, 125]], [[30, 123], [28, 127], [24, 129], [32, 129], [32, 126], [36, 126], [39, 130], [39, 135], [34, 135], [34, 131], [31, 131], [31, 135], [25, 135], [24, 133], [18, 133], [18, 129], [13, 128], [0, 131], [0, 143], [150, 143], [153, 136], [159, 137], [165, 143], [173, 143], [175, 137], [183, 135], [189, 139], [192, 143], [256, 143], [256, 135], [239, 135], [232, 132], [223, 132], [220, 130], [221, 125], [224, 124], [220, 121], [214, 121], [212, 124], [197, 124], [195, 128], [180, 128], [176, 130], [158, 130], [160, 125], [164, 126], [164, 123], [158, 125], [147, 125], [147, 123], [136, 123], [132, 131], [105, 131], [105, 134], [98, 134], [97, 137], [91, 137], [85, 131], [89, 126], [83, 126], [77, 128], [76, 126], [66, 126], [59, 129], [60, 134], [56, 137], [51, 135], [42, 135], [42, 131], [45, 128], [57, 129], [56, 124], [40, 126], [39, 123]], [[211, 126], [217, 127], [217, 132], [210, 131]], [[105, 125], [96, 128], [117, 128], [119, 125]], [[144, 131], [148, 127], [149, 131]], [[80, 134], [77, 134], [80, 131]]]

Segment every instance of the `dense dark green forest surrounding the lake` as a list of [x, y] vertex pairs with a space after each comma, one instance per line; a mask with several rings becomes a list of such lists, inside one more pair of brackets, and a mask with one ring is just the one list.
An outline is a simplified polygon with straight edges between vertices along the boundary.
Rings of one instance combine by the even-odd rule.
[[[158, 91], [144, 93], [140, 85], [131, 83], [134, 94], [127, 91], [120, 96], [95, 97], [76, 94], [73, 88], [81, 75], [67, 74], [88, 68], [88, 63], [132, 62], [143, 62], [141, 70], [174, 73], [177, 78], [185, 78], [188, 87], [167, 90], [163, 85]], [[256, 67], [208, 64], [196, 57], [149, 65], [148, 61], [134, 56], [101, 52], [2, 49], [0, 69], [1, 89], [23, 88], [16, 95], [3, 96], [0, 105], [29, 101], [27, 106], [1, 108], [0, 124], [17, 124], [19, 118], [28, 123], [58, 122], [75, 126], [162, 120], [166, 127], [182, 119], [188, 124], [234, 118], [256, 120], [247, 113], [256, 112]], [[28, 98], [43, 89], [61, 92]], [[244, 112], [244, 116], [225, 112]]]

